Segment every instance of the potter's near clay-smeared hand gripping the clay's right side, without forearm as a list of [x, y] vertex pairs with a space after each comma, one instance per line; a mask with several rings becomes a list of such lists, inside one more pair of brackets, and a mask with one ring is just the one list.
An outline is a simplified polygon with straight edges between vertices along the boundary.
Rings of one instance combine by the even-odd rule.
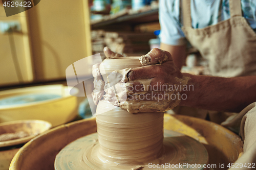
[[[130, 113], [163, 112], [179, 105], [189, 78], [175, 66], [170, 53], [154, 48], [140, 58], [143, 67], [123, 73], [127, 100], [120, 107]], [[122, 72], [122, 71], [118, 71]]]

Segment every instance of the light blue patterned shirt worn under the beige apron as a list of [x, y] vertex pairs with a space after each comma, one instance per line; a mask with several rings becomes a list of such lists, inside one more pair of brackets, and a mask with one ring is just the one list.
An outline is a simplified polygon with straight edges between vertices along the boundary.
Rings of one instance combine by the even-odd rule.
[[[190, 0], [193, 28], [204, 28], [230, 18], [229, 1]], [[256, 0], [241, 0], [243, 15], [256, 32]], [[181, 30], [180, 0], [159, 0], [161, 42], [169, 45], [185, 45], [186, 38]]]

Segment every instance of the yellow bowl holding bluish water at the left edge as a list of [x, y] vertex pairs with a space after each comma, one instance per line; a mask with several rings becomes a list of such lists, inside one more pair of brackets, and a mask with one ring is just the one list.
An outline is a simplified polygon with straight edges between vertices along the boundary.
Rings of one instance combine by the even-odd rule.
[[12, 120], [46, 120], [53, 127], [65, 124], [77, 116], [77, 97], [63, 85], [18, 88], [0, 92], [0, 100], [28, 94], [60, 95], [60, 98], [15, 105], [0, 105], [0, 123]]

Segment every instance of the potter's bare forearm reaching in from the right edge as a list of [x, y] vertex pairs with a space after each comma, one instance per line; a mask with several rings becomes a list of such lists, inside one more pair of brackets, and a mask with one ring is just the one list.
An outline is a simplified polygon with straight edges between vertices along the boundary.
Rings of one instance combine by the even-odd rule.
[[[182, 106], [208, 110], [240, 112], [256, 101], [256, 76], [221, 78], [189, 76], [190, 90], [184, 91], [187, 99]], [[192, 88], [193, 87], [193, 88]]]

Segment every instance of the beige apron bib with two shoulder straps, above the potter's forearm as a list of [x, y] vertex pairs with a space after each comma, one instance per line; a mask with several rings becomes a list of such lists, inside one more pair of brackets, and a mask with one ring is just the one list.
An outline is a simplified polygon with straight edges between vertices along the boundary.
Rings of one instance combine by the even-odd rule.
[[203, 29], [191, 26], [190, 0], [183, 0], [183, 32], [208, 60], [212, 76], [256, 75], [256, 34], [242, 17], [240, 0], [230, 0], [230, 18]]

